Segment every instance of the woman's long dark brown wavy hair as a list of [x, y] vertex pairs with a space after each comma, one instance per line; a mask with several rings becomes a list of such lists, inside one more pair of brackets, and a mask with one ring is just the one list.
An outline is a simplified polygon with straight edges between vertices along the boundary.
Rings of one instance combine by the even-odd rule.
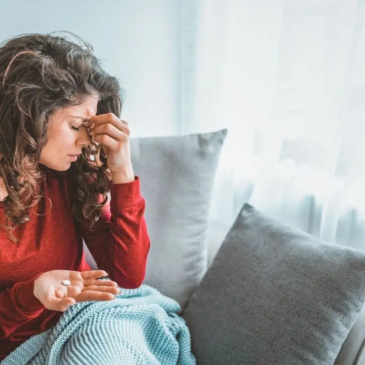
[[[30, 207], [43, 197], [39, 187], [47, 168], [40, 164], [40, 155], [52, 114], [97, 94], [97, 115], [111, 112], [119, 117], [124, 92], [117, 78], [102, 69], [92, 46], [70, 32], [20, 34], [0, 44], [0, 177], [8, 192], [5, 228], [12, 241], [18, 243], [15, 226], [29, 220]], [[67, 176], [75, 184], [72, 215], [78, 221], [87, 218], [92, 228], [111, 179], [100, 145], [84, 147]]]

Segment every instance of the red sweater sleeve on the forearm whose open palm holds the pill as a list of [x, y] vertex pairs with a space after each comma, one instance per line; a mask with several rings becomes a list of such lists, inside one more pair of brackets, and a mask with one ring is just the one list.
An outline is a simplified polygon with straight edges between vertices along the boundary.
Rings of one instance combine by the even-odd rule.
[[10, 336], [20, 325], [38, 317], [45, 309], [33, 295], [34, 280], [38, 276], [17, 282], [0, 293], [0, 340]]

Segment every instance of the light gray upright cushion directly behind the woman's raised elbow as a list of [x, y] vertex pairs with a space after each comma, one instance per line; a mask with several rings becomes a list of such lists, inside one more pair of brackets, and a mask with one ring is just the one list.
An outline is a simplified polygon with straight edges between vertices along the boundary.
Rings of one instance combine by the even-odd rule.
[[182, 310], [207, 269], [210, 200], [226, 135], [223, 129], [130, 140], [151, 238], [143, 283], [175, 299]]

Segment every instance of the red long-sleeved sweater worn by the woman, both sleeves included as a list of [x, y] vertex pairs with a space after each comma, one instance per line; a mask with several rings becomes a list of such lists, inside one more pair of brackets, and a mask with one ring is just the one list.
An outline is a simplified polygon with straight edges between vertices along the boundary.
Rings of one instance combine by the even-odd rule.
[[[145, 275], [150, 239], [137, 176], [111, 185], [111, 203], [104, 206], [96, 231], [74, 223], [65, 173], [47, 175], [43, 185], [45, 199], [33, 207], [30, 221], [15, 229], [20, 244], [0, 229], [0, 360], [58, 321], [62, 313], [34, 297], [33, 282], [50, 270], [90, 270], [83, 238], [98, 268], [119, 286], [136, 288]], [[2, 202], [0, 224], [5, 224]]]

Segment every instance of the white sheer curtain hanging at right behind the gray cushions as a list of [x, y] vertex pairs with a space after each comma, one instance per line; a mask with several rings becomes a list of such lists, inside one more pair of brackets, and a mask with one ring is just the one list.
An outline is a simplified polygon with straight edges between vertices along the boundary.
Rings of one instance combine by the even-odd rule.
[[227, 127], [212, 203], [365, 249], [365, 2], [182, 0], [181, 133]]

